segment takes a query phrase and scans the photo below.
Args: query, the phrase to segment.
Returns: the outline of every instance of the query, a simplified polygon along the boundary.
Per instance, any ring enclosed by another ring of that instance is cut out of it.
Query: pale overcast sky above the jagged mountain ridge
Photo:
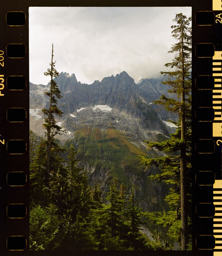
[[[81,83],[124,70],[135,82],[157,77],[173,58],[170,26],[179,12],[189,17],[191,7],[30,7],[30,82],[48,83],[52,43],[57,71]]]

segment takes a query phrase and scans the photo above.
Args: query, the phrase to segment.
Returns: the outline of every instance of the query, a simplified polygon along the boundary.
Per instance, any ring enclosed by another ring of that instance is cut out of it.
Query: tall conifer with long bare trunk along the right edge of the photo
[[[165,95],[160,100],[154,101],[156,104],[171,112],[178,113],[179,122],[172,123],[177,125],[177,131],[171,135],[171,138],[161,143],[149,142],[149,147],[156,147],[160,151],[166,152],[166,157],[156,159],[146,159],[142,156],[141,162],[146,165],[161,165],[162,173],[151,176],[151,178],[171,184],[170,194],[166,201],[170,206],[180,207],[181,218],[181,249],[186,250],[188,244],[188,196],[190,181],[189,171],[191,168],[191,18],[187,18],[182,13],[176,14],[173,20],[177,25],[171,26],[172,36],[176,38],[177,43],[172,45],[170,53],[176,53],[171,63],[166,63],[166,67],[174,68],[174,71],[160,73],[166,75],[168,79],[163,84],[170,85],[168,92],[177,96],[167,98]],[[171,155],[170,155],[171,154]],[[178,194],[180,193],[180,195]],[[176,220],[175,220],[176,221]]]

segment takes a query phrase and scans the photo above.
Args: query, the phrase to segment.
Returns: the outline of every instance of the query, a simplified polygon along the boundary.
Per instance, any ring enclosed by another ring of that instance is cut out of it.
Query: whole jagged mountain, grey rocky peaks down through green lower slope
[[[168,187],[148,179],[157,169],[145,169],[136,156],[160,155],[154,149],[146,151],[143,140],[162,141],[174,131],[151,104],[161,95],[163,85],[159,82],[156,87],[154,80],[147,79],[137,85],[125,71],[90,85],[66,72],[55,81],[63,96],[58,107],[64,113],[56,121],[66,130],[59,139],[64,147],[75,145],[89,184],[100,184],[105,197],[110,180],[116,176],[128,189],[135,186],[140,206],[152,211],[165,209],[163,198]],[[30,129],[39,136],[44,136],[41,109],[48,107],[44,95],[48,88],[49,84],[30,83]]]

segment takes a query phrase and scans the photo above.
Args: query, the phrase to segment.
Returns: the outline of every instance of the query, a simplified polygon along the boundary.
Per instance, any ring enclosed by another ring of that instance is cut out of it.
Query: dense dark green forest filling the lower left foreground
[[[106,202],[99,185],[90,188],[76,150],[71,145],[68,161],[54,142],[49,180],[46,181],[46,141],[30,133],[30,249],[147,250],[166,248],[159,239],[141,232],[147,213],[135,206],[135,191],[113,178]],[[38,142],[37,142],[38,141]],[[170,249],[170,247],[167,247]]]

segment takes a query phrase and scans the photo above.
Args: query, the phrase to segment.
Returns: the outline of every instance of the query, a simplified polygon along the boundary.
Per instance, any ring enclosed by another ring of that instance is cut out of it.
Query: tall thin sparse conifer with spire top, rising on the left
[[[49,92],[44,92],[45,95],[49,96],[49,108],[43,108],[42,112],[46,117],[44,118],[44,124],[43,127],[46,129],[45,135],[47,138],[47,149],[46,149],[46,186],[49,182],[49,176],[52,169],[52,159],[51,159],[51,151],[55,149],[56,144],[54,143],[54,138],[56,134],[61,135],[61,132],[65,132],[64,129],[62,129],[59,125],[56,125],[55,121],[55,115],[58,115],[59,117],[62,116],[62,111],[59,110],[57,107],[58,99],[60,99],[62,96],[60,94],[60,90],[56,84],[56,82],[53,80],[53,78],[56,78],[59,76],[59,72],[55,69],[55,63],[53,62],[53,44],[52,44],[52,59],[49,63],[50,68],[47,69],[46,72],[44,72],[45,76],[50,76],[50,88]]]

